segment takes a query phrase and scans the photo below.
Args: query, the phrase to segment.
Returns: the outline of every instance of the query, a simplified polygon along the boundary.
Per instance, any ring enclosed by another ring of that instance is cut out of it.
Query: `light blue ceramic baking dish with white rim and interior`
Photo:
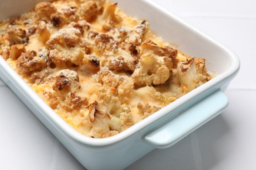
[[[18,4],[18,0],[17,4]],[[154,148],[167,148],[211,120],[228,105],[224,90],[240,67],[238,57],[177,16],[150,0],[116,0],[119,8],[131,16],[146,18],[165,41],[190,56],[207,59],[207,69],[217,76],[114,137],[92,139],[72,129],[58,114],[0,58],[2,80],[20,97],[58,140],[87,169],[124,169]],[[23,1],[22,1],[23,2]],[[5,7],[11,1],[1,1]],[[35,1],[24,1],[26,9],[1,10],[8,18],[32,9]],[[25,7],[25,6],[24,6]],[[18,11],[18,12],[17,12]]]

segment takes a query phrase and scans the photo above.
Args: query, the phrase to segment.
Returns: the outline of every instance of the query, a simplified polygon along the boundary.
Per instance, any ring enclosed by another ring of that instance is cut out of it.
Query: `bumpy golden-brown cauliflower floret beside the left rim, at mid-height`
[[[22,75],[29,76],[47,67],[47,59],[43,55],[37,56],[35,51],[28,51],[17,59],[16,66]]]

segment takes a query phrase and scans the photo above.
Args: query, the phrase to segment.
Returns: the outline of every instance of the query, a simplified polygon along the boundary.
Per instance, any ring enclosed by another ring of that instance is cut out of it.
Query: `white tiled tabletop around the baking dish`
[[[230,47],[242,65],[220,116],[127,169],[256,169],[256,1],[152,1]],[[83,169],[1,80],[0,118],[0,169]]]

